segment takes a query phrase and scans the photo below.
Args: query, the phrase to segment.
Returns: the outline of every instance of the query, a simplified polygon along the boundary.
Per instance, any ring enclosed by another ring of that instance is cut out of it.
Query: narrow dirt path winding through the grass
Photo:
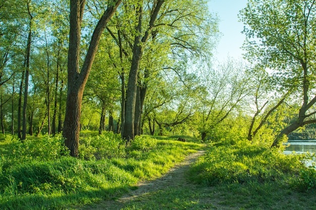
[[[145,193],[163,190],[167,187],[177,188],[183,185],[191,185],[191,183],[189,183],[185,177],[186,171],[189,170],[190,165],[194,163],[198,157],[204,155],[204,153],[205,151],[198,151],[187,156],[184,161],[171,168],[164,176],[158,179],[137,183],[136,186],[138,188],[136,190],[130,191],[117,200],[106,200],[95,204],[92,208],[85,209],[121,209],[127,202],[131,202],[134,199],[137,199],[138,196],[141,196]]]

